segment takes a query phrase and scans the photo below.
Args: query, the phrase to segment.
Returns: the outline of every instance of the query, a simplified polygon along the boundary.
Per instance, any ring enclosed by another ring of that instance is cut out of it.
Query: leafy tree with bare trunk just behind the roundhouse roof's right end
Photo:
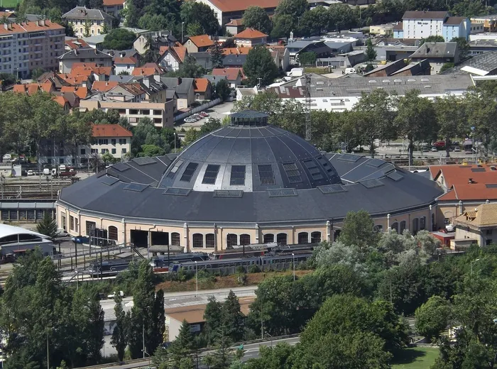
[[[430,100],[420,97],[417,89],[410,90],[399,98],[395,125],[398,134],[409,141],[409,164],[413,162],[415,141],[429,140],[436,132],[435,109]]]

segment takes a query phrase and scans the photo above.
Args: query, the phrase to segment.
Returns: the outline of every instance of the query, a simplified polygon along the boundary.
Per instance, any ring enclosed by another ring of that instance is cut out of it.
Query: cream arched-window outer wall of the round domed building
[[[375,225],[382,231],[388,228],[395,228],[395,224],[400,227],[405,221],[405,228],[415,233],[422,229],[431,229],[430,219],[436,220],[436,206],[430,206],[417,211],[409,211],[395,216],[381,216],[376,219]],[[111,209],[109,209],[111,211]],[[320,241],[333,241],[342,228],[342,222],[323,221],[320,223],[310,222],[310,224],[299,224],[295,226],[259,226],[258,224],[246,227],[234,227],[224,224],[210,224],[197,226],[182,221],[170,221],[171,224],[158,224],[158,221],[143,219],[143,223],[138,221],[128,221],[126,218],[114,219],[110,214],[86,215],[82,211],[70,209],[62,202],[57,204],[58,226],[65,228],[73,236],[89,236],[89,229],[93,226],[99,229],[106,229],[109,238],[114,239],[119,244],[136,244],[136,235],[141,233],[141,237],[146,237],[146,245],[153,246],[156,233],[160,233],[161,239],[167,239],[172,246],[182,246],[187,251],[214,251],[226,250],[229,242],[234,245],[268,243],[276,241],[288,245],[297,243],[309,243]],[[425,219],[425,226],[422,228],[421,219]],[[164,221],[166,223],[167,221]],[[174,224],[173,224],[174,223]],[[416,226],[417,224],[417,226]],[[111,228],[115,227],[115,228]],[[400,231],[400,228],[399,228]],[[137,233],[138,232],[138,233]],[[111,235],[116,235],[112,238]],[[284,236],[283,236],[284,235]],[[285,241],[283,241],[283,239]],[[200,243],[200,241],[202,241]],[[210,243],[209,243],[210,242]]]

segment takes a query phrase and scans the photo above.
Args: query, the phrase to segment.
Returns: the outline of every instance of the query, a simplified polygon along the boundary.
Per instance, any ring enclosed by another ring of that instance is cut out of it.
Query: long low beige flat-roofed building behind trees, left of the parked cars
[[[115,109],[119,111],[120,116],[128,119],[132,126],[136,126],[140,119],[145,117],[151,119],[155,127],[173,127],[175,101],[173,99],[163,102],[154,103],[141,101],[136,102],[114,99],[114,96],[107,96],[107,93],[99,92],[80,101],[80,111],[91,111],[100,109],[108,111]]]

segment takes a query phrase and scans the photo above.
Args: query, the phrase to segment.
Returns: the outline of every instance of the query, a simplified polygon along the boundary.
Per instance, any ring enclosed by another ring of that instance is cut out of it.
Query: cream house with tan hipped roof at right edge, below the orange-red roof
[[[454,250],[464,250],[472,244],[489,246],[497,243],[497,204],[487,202],[452,219],[456,236],[450,241]]]

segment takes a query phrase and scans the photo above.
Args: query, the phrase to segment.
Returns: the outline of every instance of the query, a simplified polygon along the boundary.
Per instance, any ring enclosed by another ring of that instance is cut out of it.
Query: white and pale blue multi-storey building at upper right
[[[447,11],[406,11],[402,29],[399,24],[393,28],[394,38],[420,39],[439,35],[447,42],[454,37],[467,40],[471,33],[469,18],[452,17]]]

